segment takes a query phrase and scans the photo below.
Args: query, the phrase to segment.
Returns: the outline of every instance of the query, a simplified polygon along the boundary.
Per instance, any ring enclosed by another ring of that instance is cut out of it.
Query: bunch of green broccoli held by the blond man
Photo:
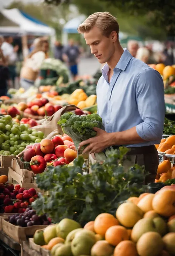
[[[61,126],[62,131],[72,138],[78,149],[81,141],[96,136],[93,127],[102,128],[102,118],[95,113],[87,116],[78,116],[69,112],[60,117],[58,124]]]

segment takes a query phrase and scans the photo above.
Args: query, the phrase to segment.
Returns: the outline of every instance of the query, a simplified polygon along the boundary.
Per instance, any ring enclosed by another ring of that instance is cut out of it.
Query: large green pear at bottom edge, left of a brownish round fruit
[[[91,248],[96,241],[91,235],[87,233],[81,233],[80,235],[80,233],[78,233],[78,236],[71,243],[73,256],[90,255]]]

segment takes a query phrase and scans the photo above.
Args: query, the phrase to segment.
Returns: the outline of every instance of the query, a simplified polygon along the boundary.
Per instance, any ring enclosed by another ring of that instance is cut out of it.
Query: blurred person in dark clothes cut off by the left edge
[[[8,79],[10,78],[10,72],[9,68],[7,67],[7,61],[1,49],[3,41],[4,38],[0,36],[0,96],[4,96],[7,94],[7,84]]]

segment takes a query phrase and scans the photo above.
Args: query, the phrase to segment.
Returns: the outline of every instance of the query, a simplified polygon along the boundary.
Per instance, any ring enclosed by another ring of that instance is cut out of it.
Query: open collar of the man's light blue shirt
[[[129,63],[130,59],[132,58],[132,55],[130,54],[130,52],[128,52],[127,48],[124,48],[123,50],[124,50],[124,52],[121,55],[119,62],[117,63],[117,65],[115,66],[114,69],[118,68],[118,69],[121,69],[124,71]],[[108,71],[109,71],[109,66],[107,64],[105,64],[104,67],[102,68],[102,74],[104,75]]]

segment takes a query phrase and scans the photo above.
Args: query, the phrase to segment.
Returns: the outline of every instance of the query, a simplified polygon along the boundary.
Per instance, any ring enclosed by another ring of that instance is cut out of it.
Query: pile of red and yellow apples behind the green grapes
[[[34,116],[52,116],[56,111],[62,108],[61,105],[53,105],[48,99],[35,99],[27,104],[20,102],[17,108],[24,113]]]

